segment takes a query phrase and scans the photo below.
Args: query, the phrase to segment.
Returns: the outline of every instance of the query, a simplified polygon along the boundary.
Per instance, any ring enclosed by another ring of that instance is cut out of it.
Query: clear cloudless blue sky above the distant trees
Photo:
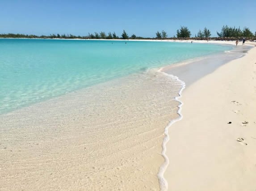
[[[226,24],[255,33],[255,10],[256,0],[0,0],[0,33],[173,37],[184,25],[192,36],[206,27],[214,37]]]

